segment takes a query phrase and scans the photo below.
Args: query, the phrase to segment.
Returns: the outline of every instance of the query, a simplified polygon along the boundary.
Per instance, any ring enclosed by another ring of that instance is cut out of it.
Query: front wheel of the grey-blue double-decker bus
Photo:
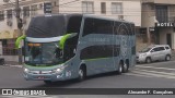
[[[84,81],[84,79],[85,79],[85,75],[86,75],[85,66],[82,65],[82,66],[79,69],[79,77],[78,77],[78,81],[79,81],[79,82]]]

